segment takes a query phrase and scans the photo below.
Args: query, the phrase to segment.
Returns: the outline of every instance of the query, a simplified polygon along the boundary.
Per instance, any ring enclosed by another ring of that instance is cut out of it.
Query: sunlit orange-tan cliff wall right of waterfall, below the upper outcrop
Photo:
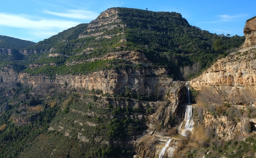
[[[256,50],[248,54],[228,55],[215,62],[202,75],[192,79],[190,85],[196,89],[204,86],[248,87],[256,86]]]

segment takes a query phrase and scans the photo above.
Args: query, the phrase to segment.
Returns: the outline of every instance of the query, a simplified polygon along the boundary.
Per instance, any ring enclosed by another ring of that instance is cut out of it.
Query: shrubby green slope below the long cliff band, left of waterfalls
[[[0,157],[131,157],[132,145],[113,142],[125,144],[141,134],[145,122],[131,115],[147,115],[148,108],[133,109],[124,98],[100,93],[0,83]]]

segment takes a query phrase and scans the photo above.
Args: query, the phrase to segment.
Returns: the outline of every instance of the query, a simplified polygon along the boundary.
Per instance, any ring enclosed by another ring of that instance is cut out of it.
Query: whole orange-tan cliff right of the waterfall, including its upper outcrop
[[[256,101],[254,98],[256,90],[255,31],[256,19],[253,18],[244,26],[246,40],[242,49],[219,59],[202,75],[192,79],[191,87],[197,90],[201,90],[203,87],[212,87],[215,89],[215,94],[221,94],[229,103],[230,97],[237,103],[254,103]],[[250,99],[244,96],[250,96]]]

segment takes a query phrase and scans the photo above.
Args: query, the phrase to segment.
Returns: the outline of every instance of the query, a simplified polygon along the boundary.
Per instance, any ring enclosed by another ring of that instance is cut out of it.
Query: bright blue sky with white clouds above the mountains
[[[243,36],[246,20],[256,15],[255,0],[3,0],[0,35],[38,42],[112,7],[175,11],[193,26],[231,36]]]

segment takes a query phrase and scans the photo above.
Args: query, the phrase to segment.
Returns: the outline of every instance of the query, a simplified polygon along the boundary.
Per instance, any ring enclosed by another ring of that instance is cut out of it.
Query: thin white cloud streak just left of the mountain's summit
[[[66,9],[65,13],[54,12],[44,9],[44,13],[55,15],[59,17],[71,18],[71,19],[95,19],[98,16],[98,13],[94,13],[92,11],[85,10],[74,10],[74,9]]]

